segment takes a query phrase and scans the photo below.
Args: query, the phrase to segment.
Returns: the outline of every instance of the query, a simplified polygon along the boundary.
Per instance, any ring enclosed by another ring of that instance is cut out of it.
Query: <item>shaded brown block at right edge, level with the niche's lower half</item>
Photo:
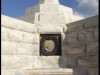
[[[87,47],[87,53],[88,54],[98,54],[98,50],[99,50],[99,46],[98,46],[98,42],[88,42],[86,44]]]

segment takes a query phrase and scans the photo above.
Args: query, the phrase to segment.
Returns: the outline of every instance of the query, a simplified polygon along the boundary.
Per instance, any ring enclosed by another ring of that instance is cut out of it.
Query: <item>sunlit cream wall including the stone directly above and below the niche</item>
[[[62,27],[36,26],[4,15],[1,25],[2,75],[30,75],[27,70],[59,68],[59,56],[40,56],[40,34],[63,34]]]

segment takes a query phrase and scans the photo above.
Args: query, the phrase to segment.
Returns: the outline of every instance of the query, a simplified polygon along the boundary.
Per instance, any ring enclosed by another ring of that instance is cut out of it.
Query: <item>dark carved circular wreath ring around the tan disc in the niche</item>
[[[52,51],[48,51],[45,46],[44,46],[44,43],[46,40],[52,40],[54,42],[54,49]],[[48,55],[56,55],[57,53],[57,48],[59,46],[59,40],[58,40],[58,37],[56,36],[45,36],[45,37],[42,37],[41,40],[41,49],[40,49],[40,54],[41,55],[45,55],[45,56],[48,56]]]

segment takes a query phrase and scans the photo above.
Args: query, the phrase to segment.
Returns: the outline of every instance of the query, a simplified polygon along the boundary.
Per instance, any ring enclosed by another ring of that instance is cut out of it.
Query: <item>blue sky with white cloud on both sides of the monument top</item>
[[[25,9],[37,3],[38,0],[1,0],[1,14],[14,18],[24,16]],[[98,15],[98,0],[59,0],[59,3],[84,18]]]

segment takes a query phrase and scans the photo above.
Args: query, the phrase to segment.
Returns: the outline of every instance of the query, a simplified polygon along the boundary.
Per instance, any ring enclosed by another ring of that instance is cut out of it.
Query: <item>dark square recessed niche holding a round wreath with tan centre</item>
[[[60,34],[40,35],[40,56],[57,56],[61,54]]]

